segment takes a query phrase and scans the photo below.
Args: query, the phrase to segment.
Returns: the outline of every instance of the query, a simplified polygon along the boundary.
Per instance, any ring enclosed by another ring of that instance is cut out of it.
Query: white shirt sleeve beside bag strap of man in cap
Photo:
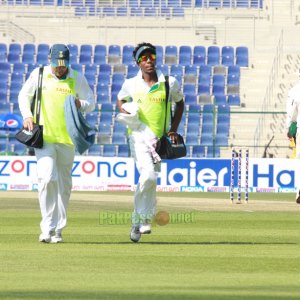
[[[26,80],[21,88],[18,96],[19,109],[23,119],[31,118],[32,112],[30,110],[31,102],[38,86],[39,68],[32,71],[29,78]]]

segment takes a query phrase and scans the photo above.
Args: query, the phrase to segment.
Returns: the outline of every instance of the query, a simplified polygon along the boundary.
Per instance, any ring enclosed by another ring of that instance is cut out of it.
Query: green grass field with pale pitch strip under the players
[[[140,243],[131,193],[73,193],[64,244],[39,243],[36,193],[0,192],[0,299],[300,299],[300,205],[293,194],[160,193],[174,218]],[[102,222],[103,223],[103,222]],[[111,224],[114,223],[114,224]],[[117,224],[116,224],[117,223]]]

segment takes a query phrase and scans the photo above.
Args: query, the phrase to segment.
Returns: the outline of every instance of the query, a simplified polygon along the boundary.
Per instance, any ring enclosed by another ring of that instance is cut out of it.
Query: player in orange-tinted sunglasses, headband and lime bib
[[[132,101],[138,107],[139,120],[146,125],[151,134],[147,134],[151,141],[145,140],[145,134],[139,130],[128,129],[129,147],[138,172],[140,174],[138,185],[134,195],[134,211],[132,217],[132,229],[130,238],[138,242],[141,234],[151,233],[151,221],[156,210],[156,184],[160,171],[160,162],[153,155],[153,141],[164,134],[164,122],[166,131],[173,143],[177,142],[177,129],[181,121],[184,109],[183,94],[178,81],[169,77],[169,101],[166,109],[165,76],[156,69],[156,48],[150,43],[141,43],[133,50],[133,57],[140,70],[138,74],[126,79],[118,93],[117,107],[120,113],[129,113],[126,102]],[[168,129],[171,102],[175,102],[175,114],[173,123]],[[147,129],[148,129],[147,128]],[[145,127],[143,127],[143,132]],[[151,145],[151,146],[149,146]],[[155,154],[155,153],[154,153]]]

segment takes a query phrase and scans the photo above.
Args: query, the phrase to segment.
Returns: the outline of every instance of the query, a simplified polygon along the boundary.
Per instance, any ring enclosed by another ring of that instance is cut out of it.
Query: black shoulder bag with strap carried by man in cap
[[[38,78],[38,89],[35,93],[33,103],[31,105],[31,111],[34,111],[35,101],[36,105],[36,123],[33,124],[32,131],[25,129],[24,127],[16,133],[16,139],[25,144],[28,147],[33,148],[42,148],[43,147],[43,125],[40,125],[40,110],[41,110],[41,96],[42,96],[42,79],[43,79],[43,69],[39,69],[39,78]]]

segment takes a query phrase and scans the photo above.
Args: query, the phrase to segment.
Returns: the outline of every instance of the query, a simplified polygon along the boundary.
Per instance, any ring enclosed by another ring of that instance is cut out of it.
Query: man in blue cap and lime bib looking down
[[[40,124],[44,146],[35,149],[39,204],[42,215],[40,242],[63,242],[62,230],[67,224],[67,208],[72,189],[71,170],[75,146],[67,131],[64,104],[74,96],[78,110],[95,108],[94,95],[85,77],[69,67],[70,52],[66,45],[55,44],[49,53],[50,64],[44,67]],[[23,126],[32,130],[34,114],[31,102],[38,86],[39,68],[33,70],[19,93]]]

